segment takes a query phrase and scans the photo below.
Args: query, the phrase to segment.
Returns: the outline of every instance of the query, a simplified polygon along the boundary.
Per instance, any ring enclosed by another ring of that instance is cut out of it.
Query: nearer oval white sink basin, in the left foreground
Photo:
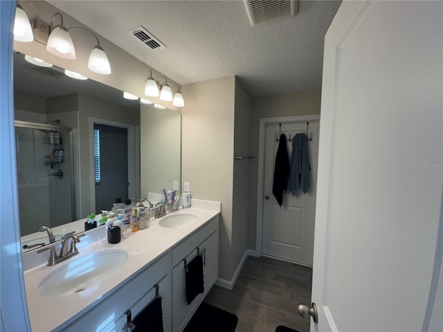
[[[80,293],[99,284],[122,268],[128,259],[125,250],[104,250],[84,257],[71,257],[67,264],[56,268],[37,287],[44,297]]]

